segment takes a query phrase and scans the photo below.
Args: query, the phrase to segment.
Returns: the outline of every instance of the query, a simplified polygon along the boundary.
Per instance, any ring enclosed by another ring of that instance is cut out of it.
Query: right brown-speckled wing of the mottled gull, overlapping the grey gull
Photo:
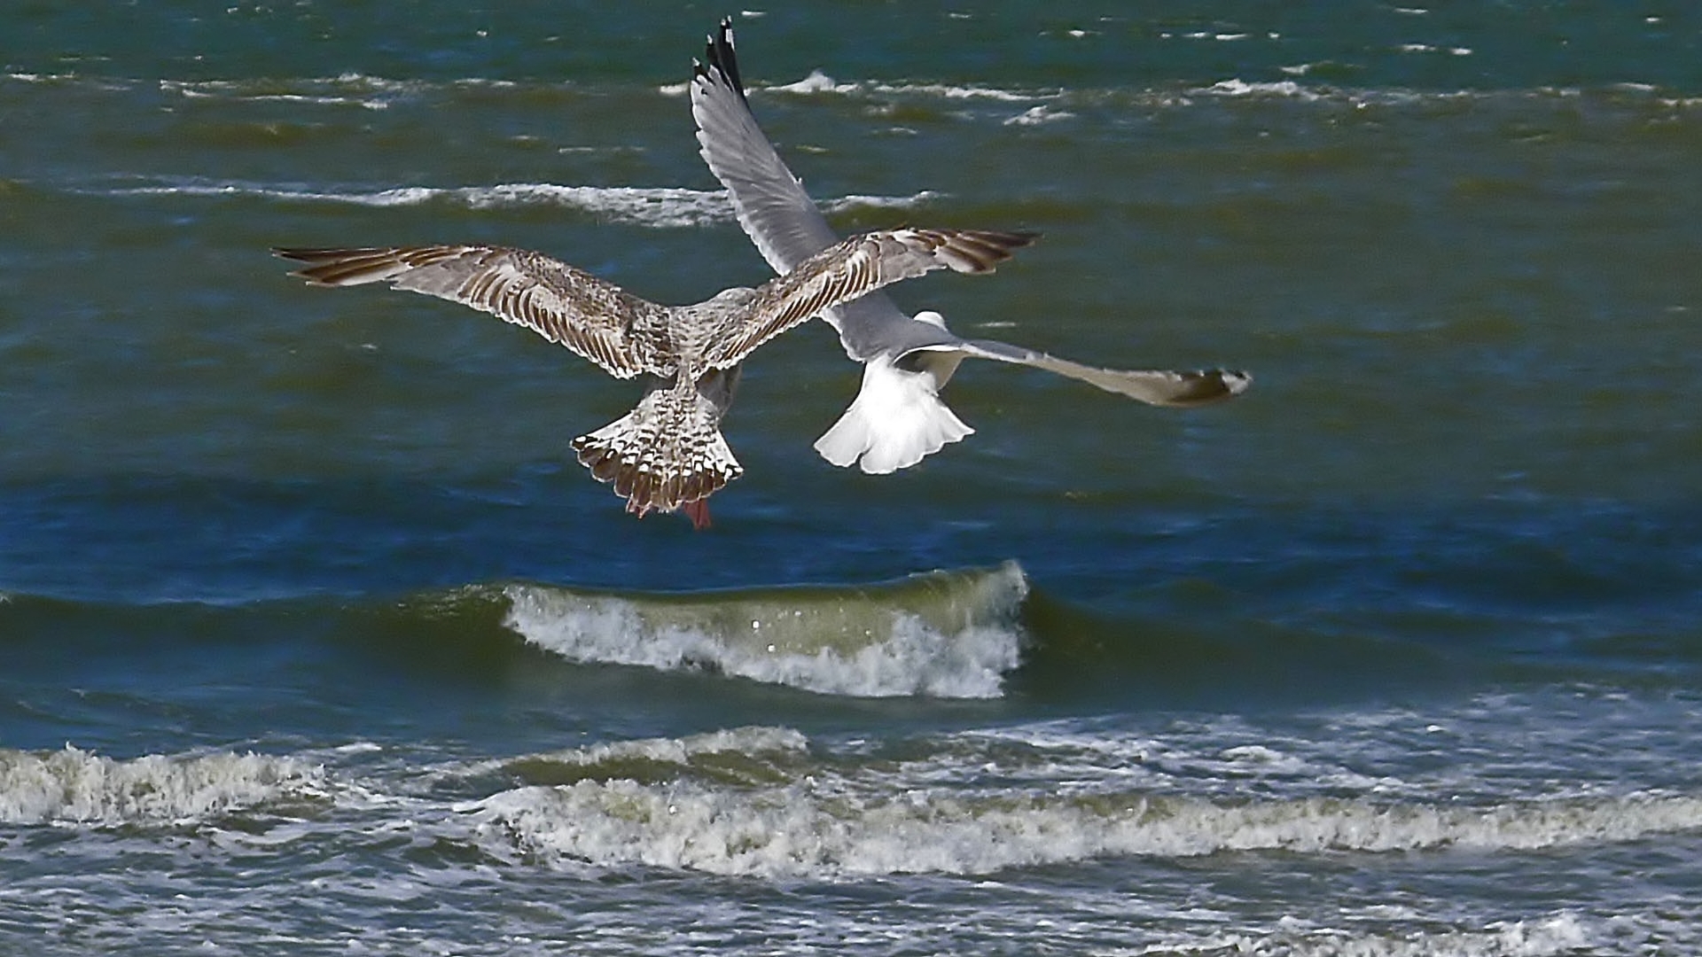
[[[934,269],[992,272],[1033,240],[1035,233],[989,230],[904,228],[854,235],[764,283],[749,312],[730,315],[710,337],[705,363],[710,368],[732,366],[762,342],[825,308]]]

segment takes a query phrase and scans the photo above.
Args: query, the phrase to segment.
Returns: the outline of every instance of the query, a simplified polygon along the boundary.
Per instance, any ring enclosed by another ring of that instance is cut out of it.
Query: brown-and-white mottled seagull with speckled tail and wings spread
[[[684,307],[638,298],[540,252],[500,245],[272,249],[306,262],[313,286],[388,283],[487,312],[565,346],[614,378],[643,378],[625,417],[574,439],[579,461],[614,485],[626,511],[684,509],[710,523],[708,497],[744,473],[720,433],[739,363],[812,315],[934,269],[992,272],[1035,233],[877,230],[831,244],[762,286]]]

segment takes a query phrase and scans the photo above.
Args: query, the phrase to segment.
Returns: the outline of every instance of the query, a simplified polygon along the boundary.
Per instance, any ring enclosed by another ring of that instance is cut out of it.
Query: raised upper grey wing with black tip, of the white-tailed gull
[[[803,191],[803,182],[786,169],[751,114],[728,20],[722,20],[710,37],[705,63],[693,66],[691,116],[698,123],[698,152],[727,187],[739,226],[762,259],[774,272],[786,272],[837,244],[839,237]],[[846,352],[858,361],[890,352],[892,344],[905,342],[912,325],[926,325],[912,322],[885,293],[825,310],[822,317],[839,330]]]

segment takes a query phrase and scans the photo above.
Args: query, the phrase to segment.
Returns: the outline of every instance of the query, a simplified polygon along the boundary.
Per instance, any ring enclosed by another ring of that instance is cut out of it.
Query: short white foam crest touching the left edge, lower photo
[[[250,807],[322,785],[323,770],[264,754],[148,754],[128,761],[66,746],[51,754],[0,751],[0,821],[175,822]]]

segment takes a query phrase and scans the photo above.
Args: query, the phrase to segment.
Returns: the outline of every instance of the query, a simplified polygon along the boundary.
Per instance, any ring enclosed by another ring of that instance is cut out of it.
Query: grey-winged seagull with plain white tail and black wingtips
[[[732,194],[739,225],[762,259],[786,272],[839,237],[751,114],[732,20],[723,19],[708,39],[705,60],[693,61],[691,78],[700,153]],[[909,468],[975,431],[940,400],[940,390],[967,358],[1033,366],[1173,409],[1222,402],[1253,381],[1227,370],[1101,370],[991,339],[960,339],[938,312],[905,315],[885,293],[829,308],[822,317],[839,332],[846,354],[863,363],[863,387],[815,441],[815,451],[834,465],[858,463],[877,475]]]

